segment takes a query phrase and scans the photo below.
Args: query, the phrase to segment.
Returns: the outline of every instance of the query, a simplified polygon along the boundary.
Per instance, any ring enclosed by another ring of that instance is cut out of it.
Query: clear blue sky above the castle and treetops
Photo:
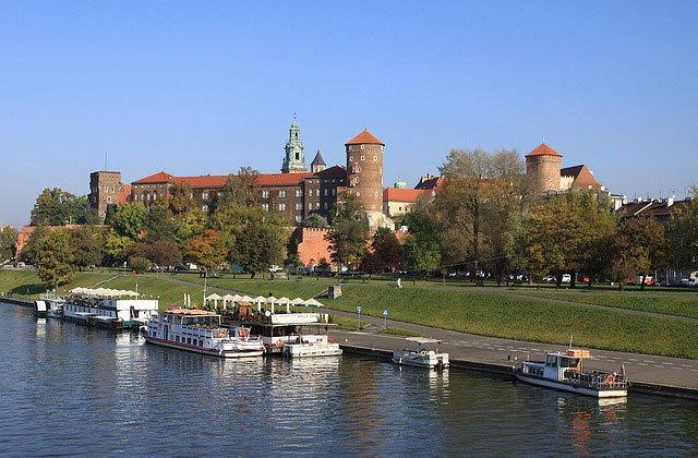
[[[0,221],[47,186],[276,172],[364,126],[384,184],[542,138],[612,192],[698,181],[698,1],[4,1]]]

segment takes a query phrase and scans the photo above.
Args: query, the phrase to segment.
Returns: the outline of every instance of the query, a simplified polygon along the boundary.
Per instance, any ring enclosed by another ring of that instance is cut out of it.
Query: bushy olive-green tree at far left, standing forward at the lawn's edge
[[[74,276],[73,250],[65,229],[50,231],[43,243],[39,280],[47,289],[69,284]]]

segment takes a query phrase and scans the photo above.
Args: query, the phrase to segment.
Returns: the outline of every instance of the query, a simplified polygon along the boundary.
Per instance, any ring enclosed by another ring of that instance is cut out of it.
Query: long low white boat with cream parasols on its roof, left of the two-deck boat
[[[75,288],[64,298],[63,318],[108,329],[135,328],[158,313],[157,299],[115,289]]]

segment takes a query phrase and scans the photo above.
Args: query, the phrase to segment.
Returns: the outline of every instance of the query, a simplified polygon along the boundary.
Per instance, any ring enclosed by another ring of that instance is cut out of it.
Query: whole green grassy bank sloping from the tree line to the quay
[[[94,286],[111,278],[109,273],[82,273],[63,289]],[[146,296],[158,297],[161,306],[180,304],[184,293],[201,304],[201,286],[171,280],[203,284],[195,275],[117,277],[104,284],[107,288],[135,289]],[[334,284],[335,279],[304,278],[303,280],[208,279],[210,287],[219,287],[249,294],[308,299]],[[36,291],[36,273],[0,270],[0,291]],[[365,315],[382,316],[389,311],[392,320],[423,324],[484,336],[564,345],[569,335],[582,347],[621,350],[698,359],[698,321],[637,315],[622,310],[602,310],[583,305],[542,300],[561,299],[581,304],[602,304],[618,309],[645,310],[682,316],[695,315],[698,294],[665,294],[655,290],[646,296],[635,292],[623,296],[615,291],[587,292],[546,291],[510,288],[443,288],[419,285],[396,289],[388,281],[342,285],[344,294],[336,301],[324,300],[328,306],[356,312],[362,306]],[[483,292],[484,291],[484,292]],[[38,294],[39,291],[36,291]],[[351,323],[346,323],[352,326]]]

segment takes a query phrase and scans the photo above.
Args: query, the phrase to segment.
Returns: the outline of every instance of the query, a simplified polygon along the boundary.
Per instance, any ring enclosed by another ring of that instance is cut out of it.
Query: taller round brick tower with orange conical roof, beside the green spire
[[[345,143],[347,186],[364,212],[383,213],[383,148],[385,144],[364,130]]]

